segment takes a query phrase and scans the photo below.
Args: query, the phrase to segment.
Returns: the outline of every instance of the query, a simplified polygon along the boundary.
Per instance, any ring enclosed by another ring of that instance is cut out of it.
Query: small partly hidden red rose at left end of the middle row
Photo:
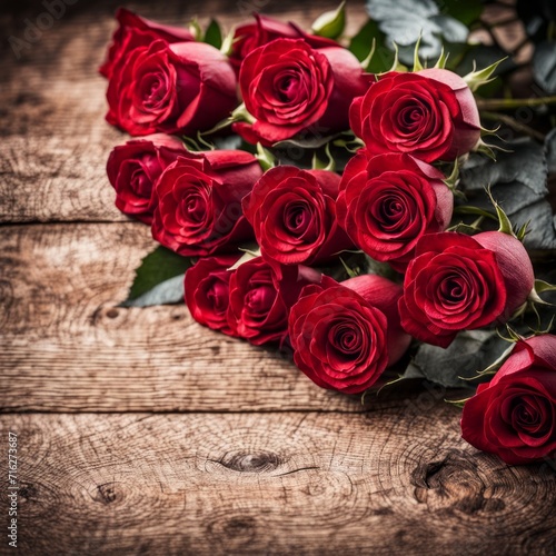
[[[116,206],[128,216],[150,224],[152,188],[162,170],[185,152],[176,137],[156,133],[115,147],[107,175],[116,189]]]

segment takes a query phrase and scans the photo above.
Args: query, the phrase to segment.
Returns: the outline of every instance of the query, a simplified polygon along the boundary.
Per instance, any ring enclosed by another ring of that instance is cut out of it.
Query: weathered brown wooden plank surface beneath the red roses
[[[251,9],[308,24],[335,4],[128,7],[230,26]],[[468,446],[445,393],[414,384],[361,405],[185,306],[119,308],[155,244],[105,173],[126,139],[96,71],[116,3],[76,1],[20,59],[7,38],[44,7],[2,6],[0,486],[11,430],[22,554],[555,553],[554,470]],[[348,13],[353,32],[363,2]]]

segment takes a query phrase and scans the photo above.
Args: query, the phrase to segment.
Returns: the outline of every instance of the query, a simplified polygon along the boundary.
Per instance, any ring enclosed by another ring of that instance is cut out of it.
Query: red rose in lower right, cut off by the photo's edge
[[[461,436],[510,465],[556,455],[556,336],[516,344],[493,380],[466,401]]]

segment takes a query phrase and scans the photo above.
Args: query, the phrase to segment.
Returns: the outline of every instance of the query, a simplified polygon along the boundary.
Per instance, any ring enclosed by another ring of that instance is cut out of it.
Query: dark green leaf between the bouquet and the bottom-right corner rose
[[[424,376],[447,388],[473,386],[474,378],[493,364],[508,347],[493,330],[468,330],[456,336],[446,348],[421,344],[405,376]]]

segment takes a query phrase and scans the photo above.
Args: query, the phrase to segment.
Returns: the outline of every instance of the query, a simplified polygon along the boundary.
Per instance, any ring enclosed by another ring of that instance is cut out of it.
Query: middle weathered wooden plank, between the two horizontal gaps
[[[155,247],[141,224],[0,230],[3,410],[361,409],[276,349],[201,327],[185,305],[117,307]]]

